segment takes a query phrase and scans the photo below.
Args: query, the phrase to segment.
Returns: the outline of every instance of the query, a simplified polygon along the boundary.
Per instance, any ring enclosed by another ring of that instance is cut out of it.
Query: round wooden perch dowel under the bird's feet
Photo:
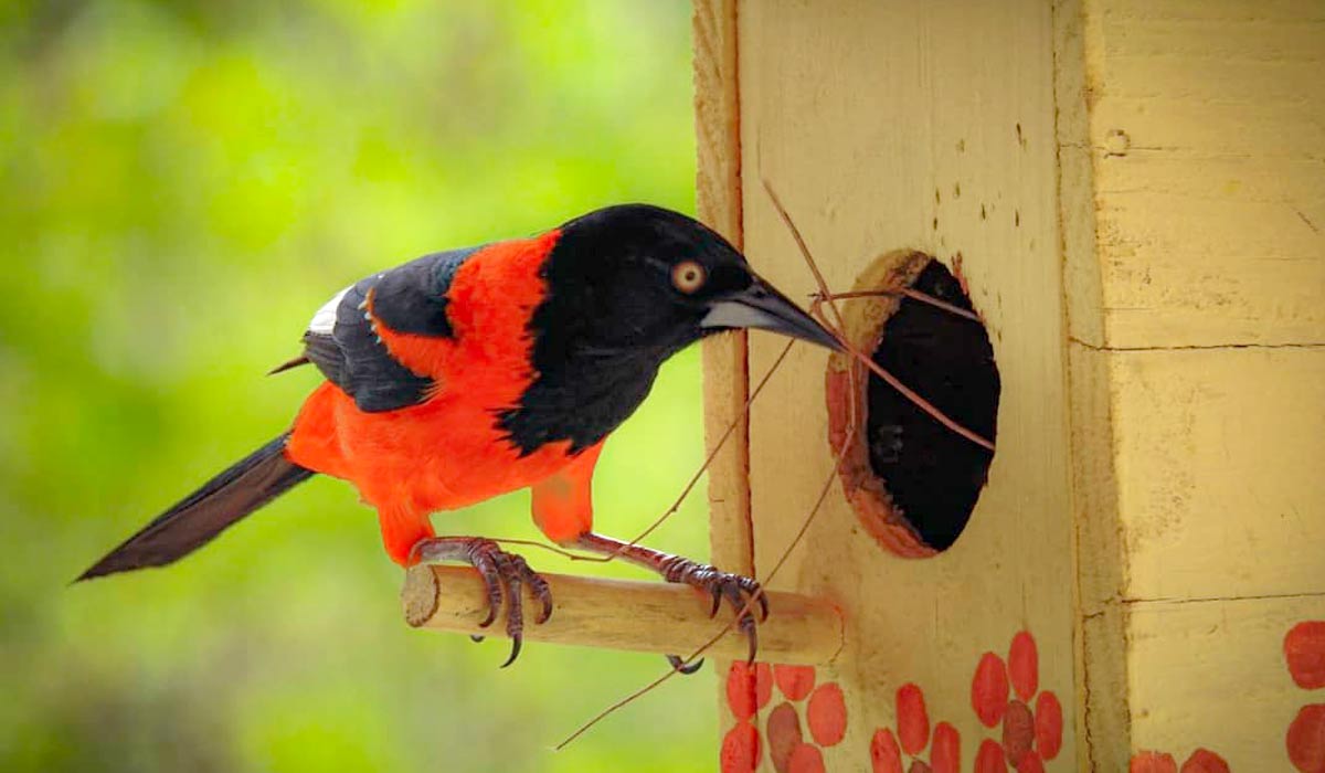
[[[689,655],[731,621],[723,607],[709,618],[708,595],[665,582],[627,582],[543,575],[553,589],[551,619],[534,624],[526,598],[525,639]],[[488,610],[478,573],[468,566],[415,566],[400,593],[405,622],[415,627],[505,636],[501,619],[480,628]],[[768,619],[759,624],[759,659],[816,666],[831,662],[843,646],[841,613],[827,601],[791,593],[768,593]],[[746,639],[730,631],[706,652],[746,656]]]

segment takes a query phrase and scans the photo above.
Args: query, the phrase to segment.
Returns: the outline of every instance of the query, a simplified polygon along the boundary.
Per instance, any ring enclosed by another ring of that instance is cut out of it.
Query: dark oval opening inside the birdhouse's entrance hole
[[[962,285],[937,260],[912,288],[974,310]],[[984,325],[906,296],[884,324],[873,361],[958,423],[994,440],[999,377]],[[971,517],[994,453],[877,378],[869,379],[867,399],[871,468],[920,538],[946,550]]]

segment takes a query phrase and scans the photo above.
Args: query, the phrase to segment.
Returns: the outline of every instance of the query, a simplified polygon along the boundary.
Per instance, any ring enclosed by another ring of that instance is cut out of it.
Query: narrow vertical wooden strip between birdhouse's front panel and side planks
[[[1090,147],[1086,54],[1097,48],[1098,20],[1083,0],[1053,1],[1053,91],[1059,146],[1059,223],[1063,294],[1071,335],[1104,341],[1104,268],[1097,259],[1094,176],[1101,154]],[[1088,46],[1088,38],[1092,45]],[[1113,455],[1113,392],[1108,354],[1068,347],[1072,516],[1076,538],[1077,766],[1122,770],[1130,748],[1126,696],[1126,621],[1120,587],[1126,557],[1118,540]]]

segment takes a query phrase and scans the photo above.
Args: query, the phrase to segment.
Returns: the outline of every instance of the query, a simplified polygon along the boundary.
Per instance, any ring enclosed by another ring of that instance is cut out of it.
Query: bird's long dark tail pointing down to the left
[[[311,469],[285,457],[285,442],[289,438],[289,432],[281,435],[204,483],[200,489],[158,516],[123,545],[83,571],[78,579],[171,564],[211,542],[231,524],[311,477]]]

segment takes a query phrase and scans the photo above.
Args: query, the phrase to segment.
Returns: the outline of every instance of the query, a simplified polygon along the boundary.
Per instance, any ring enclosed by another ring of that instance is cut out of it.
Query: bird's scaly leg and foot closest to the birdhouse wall
[[[754,662],[755,651],[759,648],[759,635],[754,614],[746,609],[747,602],[758,598],[759,619],[768,618],[768,599],[754,579],[741,574],[731,574],[730,571],[721,571],[708,564],[700,564],[689,558],[644,548],[643,545],[631,545],[612,537],[595,534],[594,532],[580,534],[574,540],[574,545],[591,553],[619,556],[631,564],[657,571],[668,582],[678,582],[706,591],[713,597],[713,609],[709,610],[709,617],[718,614],[718,607],[726,599],[733,611],[739,615],[737,627],[750,640],[750,662]],[[672,660],[672,658],[668,658],[668,660]],[[672,664],[676,667],[674,660],[672,660]]]

